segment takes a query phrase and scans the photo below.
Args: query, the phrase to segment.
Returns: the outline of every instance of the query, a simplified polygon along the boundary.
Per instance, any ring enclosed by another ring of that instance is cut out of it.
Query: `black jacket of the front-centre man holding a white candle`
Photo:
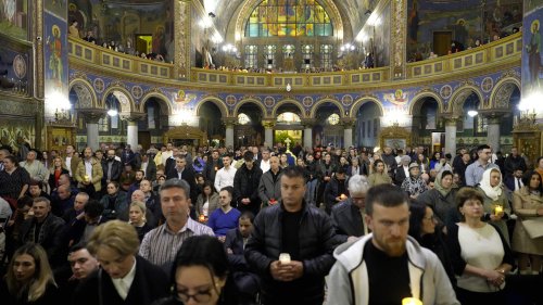
[[[298,236],[304,268],[303,276],[292,282],[277,281],[269,272],[282,250],[282,203],[262,209],[254,220],[245,258],[261,277],[264,304],[323,304],[325,276],[336,262],[332,252],[338,243],[328,215],[305,202],[302,208]],[[286,293],[293,287],[295,294]]]

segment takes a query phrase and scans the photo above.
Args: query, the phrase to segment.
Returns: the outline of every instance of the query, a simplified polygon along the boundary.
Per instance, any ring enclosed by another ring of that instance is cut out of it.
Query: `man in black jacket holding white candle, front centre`
[[[281,202],[256,216],[245,258],[261,277],[262,304],[321,305],[334,263],[333,227],[328,215],[304,202],[301,168],[283,169],[280,182]]]

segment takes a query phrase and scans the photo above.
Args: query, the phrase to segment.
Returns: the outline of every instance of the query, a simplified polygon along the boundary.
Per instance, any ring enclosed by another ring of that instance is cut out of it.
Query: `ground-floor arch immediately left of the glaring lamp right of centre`
[[[381,109],[372,100],[363,102],[356,112],[356,135],[357,147],[374,148],[379,142],[379,131],[381,130]]]

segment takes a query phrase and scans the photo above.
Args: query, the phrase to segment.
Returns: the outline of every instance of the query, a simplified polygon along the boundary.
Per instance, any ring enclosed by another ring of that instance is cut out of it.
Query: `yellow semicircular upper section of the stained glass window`
[[[332,35],[330,17],[316,0],[264,0],[245,25],[247,37]]]

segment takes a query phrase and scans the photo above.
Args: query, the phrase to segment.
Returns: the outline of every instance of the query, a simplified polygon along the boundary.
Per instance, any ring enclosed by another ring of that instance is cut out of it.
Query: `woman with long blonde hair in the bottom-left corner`
[[[2,304],[55,304],[58,289],[47,253],[27,243],[15,251],[0,287]]]

